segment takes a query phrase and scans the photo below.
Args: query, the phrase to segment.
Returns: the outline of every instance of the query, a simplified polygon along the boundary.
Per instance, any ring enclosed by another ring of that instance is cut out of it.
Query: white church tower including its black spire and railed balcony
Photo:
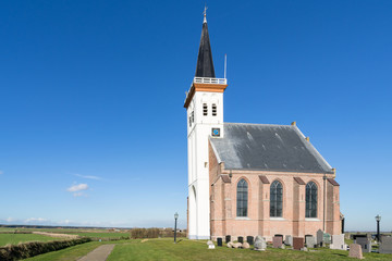
[[[188,238],[210,238],[208,139],[223,137],[225,78],[216,78],[206,11],[196,74],[186,94],[188,148]]]

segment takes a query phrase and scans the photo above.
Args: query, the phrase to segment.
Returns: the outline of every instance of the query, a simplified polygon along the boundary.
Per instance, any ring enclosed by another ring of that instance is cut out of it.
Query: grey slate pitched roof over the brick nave
[[[210,137],[226,170],[333,173],[296,126],[224,123],[224,137]]]

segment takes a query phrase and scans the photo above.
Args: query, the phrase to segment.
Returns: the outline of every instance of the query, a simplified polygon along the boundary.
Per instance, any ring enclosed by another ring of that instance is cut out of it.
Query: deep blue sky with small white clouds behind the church
[[[0,2],[0,223],[186,226],[205,1]],[[224,121],[298,127],[392,229],[392,2],[209,1]]]

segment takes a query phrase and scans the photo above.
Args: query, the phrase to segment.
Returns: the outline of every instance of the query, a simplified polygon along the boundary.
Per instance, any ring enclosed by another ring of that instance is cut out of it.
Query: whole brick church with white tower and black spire
[[[206,13],[186,92],[189,239],[230,235],[341,234],[340,186],[293,122],[223,122],[225,78],[216,78]]]

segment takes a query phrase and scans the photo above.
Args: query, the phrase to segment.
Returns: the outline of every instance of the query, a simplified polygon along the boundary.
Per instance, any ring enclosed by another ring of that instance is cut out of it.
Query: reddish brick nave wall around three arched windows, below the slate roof
[[[332,179],[324,179],[324,175]],[[316,232],[323,228],[331,235],[341,234],[339,184],[334,176],[330,173],[225,170],[209,145],[211,238],[261,235],[271,240],[275,234],[316,236]],[[246,217],[236,216],[236,186],[242,178],[248,184]],[[270,185],[277,179],[283,186],[283,213],[282,217],[270,217]],[[317,217],[314,219],[305,217],[308,182],[314,182],[318,188]]]

